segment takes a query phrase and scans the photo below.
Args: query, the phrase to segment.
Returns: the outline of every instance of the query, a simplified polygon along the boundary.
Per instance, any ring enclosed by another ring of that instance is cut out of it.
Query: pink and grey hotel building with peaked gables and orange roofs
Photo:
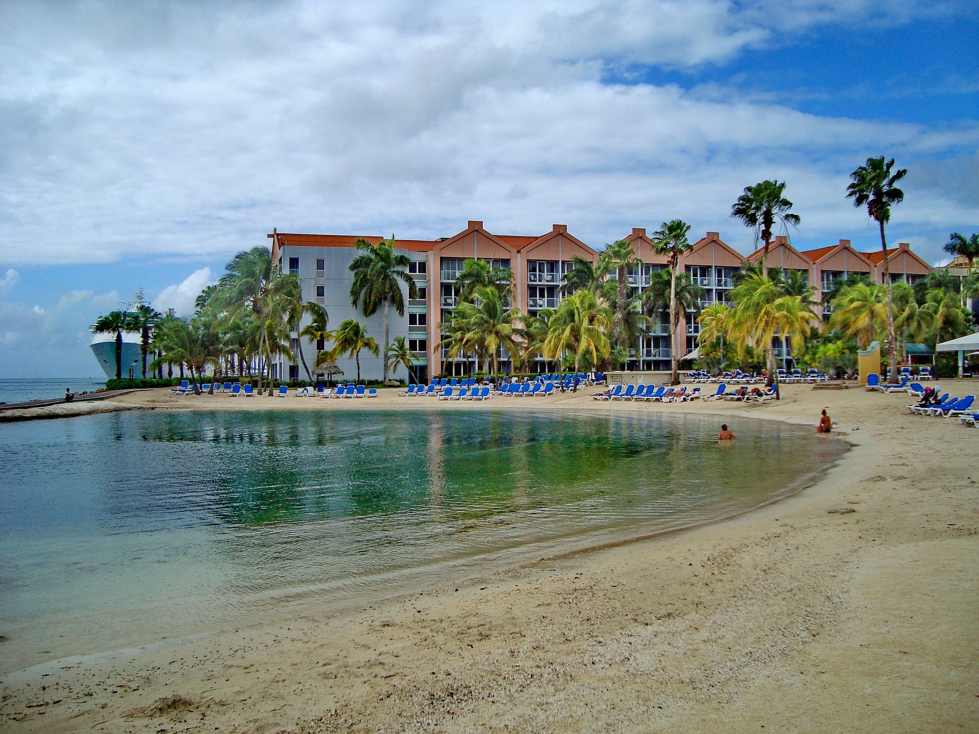
[[[330,325],[336,328],[341,321],[356,318],[365,324],[368,333],[378,344],[382,342],[383,329],[381,314],[365,318],[350,305],[350,262],[356,255],[354,235],[308,235],[272,231],[272,258],[284,272],[295,273],[303,284],[303,299],[317,302],[326,307]],[[380,237],[364,237],[371,243],[380,242]],[[666,258],[653,252],[653,244],[642,228],[633,228],[624,237],[643,265],[629,273],[629,285],[633,291],[642,291],[649,285],[653,271],[666,267]],[[416,378],[427,381],[440,374],[465,375],[476,370],[474,359],[449,360],[445,351],[438,347],[441,341],[438,325],[450,320],[449,312],[455,305],[458,294],[453,286],[463,262],[472,257],[489,260],[500,267],[513,270],[516,284],[514,305],[521,311],[535,313],[543,308],[556,308],[561,300],[559,287],[565,273],[572,268],[572,257],[580,255],[595,262],[598,252],[585,245],[568,232],[564,224],[555,224],[550,232],[537,237],[519,235],[497,235],[488,232],[483,222],[470,221],[468,226],[452,237],[438,240],[396,240],[396,250],[404,252],[411,259],[409,273],[419,288],[417,299],[406,300],[403,317],[391,314],[391,338],[406,337],[412,351],[416,354]],[[877,252],[857,252],[849,240],[840,240],[838,245],[818,250],[799,252],[785,238],[776,238],[769,247],[768,265],[786,270],[801,270],[806,273],[809,283],[816,286],[816,299],[821,299],[838,278],[846,278],[850,273],[861,273],[873,282],[883,282],[881,267],[883,255]],[[681,260],[681,267],[704,289],[702,306],[714,302],[727,302],[733,286],[735,273],[746,263],[756,263],[761,259],[761,251],[745,257],[726,245],[718,232],[708,232],[694,245]],[[892,281],[913,282],[931,272],[931,266],[901,243],[888,251]],[[821,308],[817,306],[817,312]],[[692,316],[692,314],[689,314]],[[686,348],[689,353],[697,343],[699,326],[692,318],[684,319],[680,329],[686,333]],[[293,335],[295,348],[297,335]],[[789,350],[777,345],[780,355],[788,359]],[[310,363],[317,349],[323,344],[303,344],[303,351]],[[501,357],[505,360],[506,355]],[[361,375],[367,379],[382,376],[381,357],[361,353]],[[506,369],[509,363],[504,361]],[[345,377],[355,374],[352,359],[338,359]],[[544,371],[544,363],[537,360],[538,369]],[[303,367],[290,363],[284,357],[275,366],[277,373],[284,378],[304,379]],[[638,353],[632,353],[630,369],[669,370],[670,369],[670,330],[666,313],[661,314],[642,338]],[[403,375],[399,375],[403,377]]]

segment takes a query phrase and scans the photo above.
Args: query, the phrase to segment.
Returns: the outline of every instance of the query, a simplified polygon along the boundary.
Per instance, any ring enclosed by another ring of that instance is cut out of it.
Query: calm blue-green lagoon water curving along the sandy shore
[[[708,520],[842,442],[764,422],[131,412],[0,425],[0,669]]]

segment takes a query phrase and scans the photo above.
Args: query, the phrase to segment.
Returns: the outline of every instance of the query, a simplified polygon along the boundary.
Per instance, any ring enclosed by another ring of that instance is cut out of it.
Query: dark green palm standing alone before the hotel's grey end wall
[[[401,285],[408,287],[408,298],[418,298],[418,286],[408,275],[411,258],[403,252],[395,252],[395,238],[379,242],[376,246],[366,240],[357,240],[354,247],[361,252],[350,263],[353,283],[350,284],[350,302],[360,307],[364,316],[373,316],[384,307],[384,349],[388,351],[389,312],[395,306],[398,316],[404,315],[404,295]],[[344,322],[347,323],[347,322]],[[360,379],[360,363],[357,362],[357,379]],[[388,363],[384,363],[384,382],[388,382]]]

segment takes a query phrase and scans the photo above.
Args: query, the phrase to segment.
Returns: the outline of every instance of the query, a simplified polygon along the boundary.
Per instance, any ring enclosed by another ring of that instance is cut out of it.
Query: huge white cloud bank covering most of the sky
[[[468,218],[532,234],[563,221],[601,244],[674,216],[717,229],[744,185],[771,176],[790,182],[808,235],[849,234],[863,223],[841,195],[855,163],[881,148],[902,164],[974,152],[976,126],[804,115],[731,90],[610,86],[603,71],[722,65],[817,25],[941,12],[874,0],[4,3],[0,232],[31,247],[0,234],[0,257],[223,257],[273,226],[433,237]],[[975,218],[971,195],[932,186],[910,200],[900,217],[915,231]],[[160,298],[189,313],[182,286]]]

